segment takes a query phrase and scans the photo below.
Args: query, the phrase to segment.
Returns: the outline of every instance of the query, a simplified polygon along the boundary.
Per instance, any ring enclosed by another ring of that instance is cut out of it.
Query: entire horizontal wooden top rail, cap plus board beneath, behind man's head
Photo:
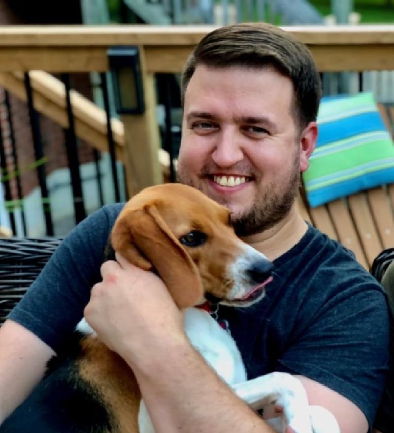
[[[107,50],[139,45],[148,72],[180,72],[193,46],[214,26],[0,27],[0,71],[104,71]],[[394,69],[394,25],[284,27],[306,43],[319,69]]]

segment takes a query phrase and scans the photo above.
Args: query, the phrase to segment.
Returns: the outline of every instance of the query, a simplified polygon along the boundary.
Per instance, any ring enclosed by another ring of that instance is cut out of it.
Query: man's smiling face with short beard
[[[178,178],[228,207],[239,235],[271,228],[297,195],[309,152],[292,101],[270,67],[200,65],[187,86]]]

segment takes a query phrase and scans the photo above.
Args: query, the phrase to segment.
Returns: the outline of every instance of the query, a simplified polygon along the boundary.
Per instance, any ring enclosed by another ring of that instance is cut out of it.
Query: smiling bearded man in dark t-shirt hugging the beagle
[[[372,431],[387,370],[384,295],[294,204],[317,137],[320,80],[309,51],[266,24],[224,27],[196,47],[182,87],[179,180],[227,206],[239,236],[275,265],[257,306],[219,309],[249,377],[297,375],[342,433]],[[0,330],[1,416],[40,380],[87,304],[87,321],[133,369],[157,433],[272,432],[191,347],[157,276],[120,256],[98,273],[120,209],[105,207],[70,233]]]

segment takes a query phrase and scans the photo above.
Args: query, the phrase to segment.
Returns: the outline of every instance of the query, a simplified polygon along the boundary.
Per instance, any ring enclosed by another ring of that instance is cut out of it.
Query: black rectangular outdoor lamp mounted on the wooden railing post
[[[145,111],[137,46],[113,46],[107,51],[118,114]]]

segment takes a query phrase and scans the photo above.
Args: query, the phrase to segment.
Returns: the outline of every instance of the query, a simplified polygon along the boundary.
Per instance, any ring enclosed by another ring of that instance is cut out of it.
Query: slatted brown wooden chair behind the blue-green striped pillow
[[[394,107],[379,104],[383,120],[394,137]],[[374,258],[394,247],[394,184],[310,208],[302,191],[298,205],[304,219],[351,249],[370,269]]]

